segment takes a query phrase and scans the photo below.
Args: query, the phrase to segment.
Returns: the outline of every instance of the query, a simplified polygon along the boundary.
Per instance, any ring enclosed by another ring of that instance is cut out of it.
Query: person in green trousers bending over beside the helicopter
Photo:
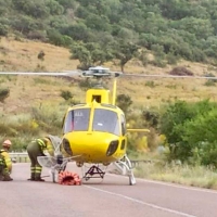
[[[54,148],[61,142],[60,138],[48,136],[41,139],[36,139],[27,145],[27,153],[30,158],[30,178],[29,181],[44,181],[41,179],[42,166],[38,163],[38,156],[46,156],[47,150],[50,156],[54,155]]]

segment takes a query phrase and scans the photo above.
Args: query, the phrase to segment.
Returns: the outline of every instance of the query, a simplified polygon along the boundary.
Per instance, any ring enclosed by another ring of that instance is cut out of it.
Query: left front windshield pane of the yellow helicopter
[[[87,131],[90,108],[77,108],[68,112],[65,118],[64,133],[71,131]]]

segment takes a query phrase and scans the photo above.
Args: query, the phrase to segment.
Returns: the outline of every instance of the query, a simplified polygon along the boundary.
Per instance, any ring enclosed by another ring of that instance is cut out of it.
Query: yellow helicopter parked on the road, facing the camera
[[[94,175],[104,177],[99,165],[114,164],[122,174],[129,176],[129,184],[136,179],[130,159],[127,156],[127,132],[148,129],[127,129],[124,112],[115,105],[116,77],[120,73],[112,73],[110,68],[97,66],[84,72],[82,77],[94,77],[99,81],[104,77],[114,77],[113,95],[101,82],[86,93],[86,103],[71,106],[63,122],[62,149],[78,167],[85,163],[93,164],[84,178],[88,180]],[[112,98],[111,98],[112,97]]]

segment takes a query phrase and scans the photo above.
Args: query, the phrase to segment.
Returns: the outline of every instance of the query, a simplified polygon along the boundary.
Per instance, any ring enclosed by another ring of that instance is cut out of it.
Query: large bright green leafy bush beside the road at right
[[[169,159],[191,162],[200,157],[205,165],[215,164],[217,153],[217,104],[204,100],[197,103],[178,101],[167,107],[161,116],[161,133],[169,145]],[[216,157],[215,157],[216,158]]]

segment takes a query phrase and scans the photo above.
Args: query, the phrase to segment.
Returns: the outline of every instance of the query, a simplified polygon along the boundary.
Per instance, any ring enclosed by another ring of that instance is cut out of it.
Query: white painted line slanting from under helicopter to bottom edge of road
[[[186,214],[186,213],[182,213],[182,212],[174,210],[174,209],[170,209],[170,208],[165,208],[165,207],[157,206],[157,205],[154,205],[154,204],[151,204],[151,203],[145,203],[143,201],[140,201],[140,200],[137,200],[137,199],[133,199],[133,197],[130,197],[130,196],[126,196],[124,194],[118,194],[118,193],[114,193],[114,192],[111,192],[111,191],[105,191],[105,190],[98,189],[98,188],[90,187],[90,186],[84,186],[84,187],[95,190],[95,191],[101,191],[101,192],[106,193],[106,194],[119,196],[119,197],[126,199],[128,201],[132,201],[135,203],[139,203],[139,204],[142,204],[142,205],[145,205],[145,206],[149,206],[149,207],[152,207],[152,208],[156,208],[156,209],[159,209],[159,210],[163,210],[163,212],[173,213],[173,214],[177,214],[179,216],[184,216],[184,217],[196,217],[196,216]]]

